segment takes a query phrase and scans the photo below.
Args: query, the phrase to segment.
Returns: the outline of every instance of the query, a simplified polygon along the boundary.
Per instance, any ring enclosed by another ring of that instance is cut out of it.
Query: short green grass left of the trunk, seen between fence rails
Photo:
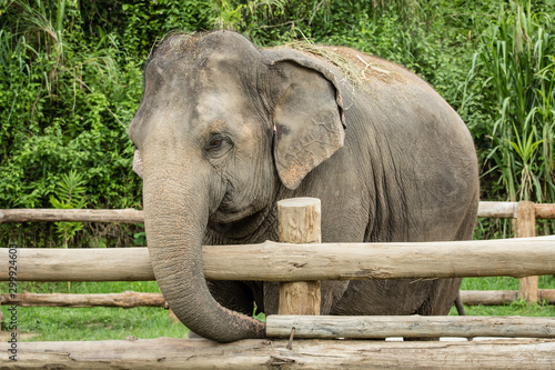
[[[6,283],[0,283],[4,289]],[[21,290],[33,293],[53,293],[65,290],[65,283],[20,282]],[[73,282],[73,293],[113,293],[127,290],[155,292],[160,289],[155,281],[134,282]],[[2,311],[7,306],[2,306]],[[8,317],[8,316],[7,316]],[[4,328],[7,329],[7,328]],[[20,307],[18,309],[19,340],[60,341],[60,340],[108,340],[137,338],[173,337],[183,338],[188,329],[181,323],[171,323],[168,310],[161,307],[138,307],[131,309],[94,307]],[[31,337],[26,337],[29,334]]]

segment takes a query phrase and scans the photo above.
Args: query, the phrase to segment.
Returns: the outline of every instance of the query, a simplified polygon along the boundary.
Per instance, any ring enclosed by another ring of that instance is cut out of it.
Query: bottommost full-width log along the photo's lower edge
[[[20,342],[3,369],[553,369],[555,340],[367,341],[158,338],[73,342]],[[10,343],[0,343],[7,353]],[[8,354],[11,354],[8,352]],[[7,359],[8,354],[3,354]]]

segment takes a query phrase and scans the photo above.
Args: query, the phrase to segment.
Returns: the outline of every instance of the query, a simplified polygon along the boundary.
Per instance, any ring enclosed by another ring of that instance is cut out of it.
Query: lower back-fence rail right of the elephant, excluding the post
[[[519,299],[518,290],[461,290],[461,299],[466,306],[509,304]],[[555,289],[539,289],[538,300],[555,304]]]

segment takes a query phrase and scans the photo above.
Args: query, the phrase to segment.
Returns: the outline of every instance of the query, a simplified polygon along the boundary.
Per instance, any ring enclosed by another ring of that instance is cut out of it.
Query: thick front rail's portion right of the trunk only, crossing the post
[[[206,250],[203,258],[204,271],[214,280],[239,274],[242,280],[264,281],[519,278],[555,271],[555,237],[425,243],[265,242],[243,246],[241,251],[234,246],[221,246],[218,253]],[[231,261],[233,257],[236,260]],[[232,273],[225,271],[230,266],[235,269]]]

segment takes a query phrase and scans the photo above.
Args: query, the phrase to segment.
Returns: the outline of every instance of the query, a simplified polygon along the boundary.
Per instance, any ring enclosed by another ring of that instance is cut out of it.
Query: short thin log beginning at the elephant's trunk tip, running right
[[[555,338],[554,318],[464,316],[282,316],[266,317],[266,336],[373,339],[438,337]]]

